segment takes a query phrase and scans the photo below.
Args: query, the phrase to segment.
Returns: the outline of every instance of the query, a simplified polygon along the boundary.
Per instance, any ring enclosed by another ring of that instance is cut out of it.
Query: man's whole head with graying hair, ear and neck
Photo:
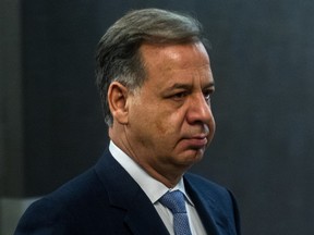
[[[169,187],[203,158],[215,133],[214,78],[200,33],[191,17],[148,9],[126,14],[99,44],[109,136]]]

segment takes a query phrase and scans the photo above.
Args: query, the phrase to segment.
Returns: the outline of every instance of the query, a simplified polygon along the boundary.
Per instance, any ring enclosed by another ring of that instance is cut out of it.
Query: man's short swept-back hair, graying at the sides
[[[143,9],[126,13],[102,36],[96,55],[96,84],[100,92],[106,123],[111,126],[107,91],[112,82],[134,90],[146,79],[140,47],[148,44],[186,44],[206,40],[202,25],[190,15],[159,9]],[[205,44],[206,45],[206,44]]]

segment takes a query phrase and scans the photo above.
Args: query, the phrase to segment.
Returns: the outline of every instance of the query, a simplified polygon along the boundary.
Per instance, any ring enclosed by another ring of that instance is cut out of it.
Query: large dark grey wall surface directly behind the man
[[[243,234],[314,233],[314,1],[21,3],[23,187],[15,196],[49,193],[98,159],[108,138],[96,45],[125,11],[158,7],[195,15],[213,45],[217,134],[192,171],[233,190]]]

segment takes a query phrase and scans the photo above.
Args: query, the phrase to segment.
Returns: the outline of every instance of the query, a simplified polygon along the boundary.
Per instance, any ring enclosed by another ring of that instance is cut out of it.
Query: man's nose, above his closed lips
[[[186,120],[190,124],[202,123],[208,125],[208,127],[215,126],[210,100],[207,101],[203,92],[191,97]]]

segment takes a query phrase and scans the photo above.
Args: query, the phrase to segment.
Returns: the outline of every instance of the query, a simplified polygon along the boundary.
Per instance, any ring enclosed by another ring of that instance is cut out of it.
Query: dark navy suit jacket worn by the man
[[[237,205],[226,188],[189,173],[184,184],[209,235],[240,234]],[[94,168],[34,202],[14,234],[169,233],[146,194],[107,151]]]

